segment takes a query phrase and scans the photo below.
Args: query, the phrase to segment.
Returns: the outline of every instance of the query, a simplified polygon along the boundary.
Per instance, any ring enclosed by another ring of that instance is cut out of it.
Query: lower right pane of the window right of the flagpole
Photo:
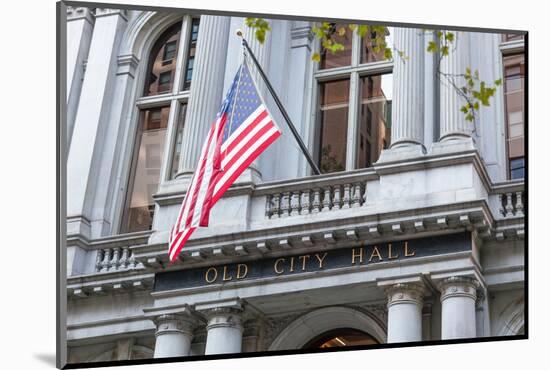
[[[391,99],[393,76],[361,78],[357,168],[370,167],[391,142]]]

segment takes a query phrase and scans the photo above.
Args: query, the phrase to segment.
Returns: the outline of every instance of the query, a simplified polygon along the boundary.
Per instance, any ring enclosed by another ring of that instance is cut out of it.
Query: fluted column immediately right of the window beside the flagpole
[[[422,30],[396,28],[393,67],[391,148],[422,145],[424,140],[424,36]]]

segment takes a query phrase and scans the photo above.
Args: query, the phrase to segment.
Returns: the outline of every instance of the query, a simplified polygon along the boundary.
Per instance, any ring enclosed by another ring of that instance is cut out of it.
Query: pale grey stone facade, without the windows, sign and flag
[[[502,89],[483,108],[480,137],[458,111],[457,97],[434,88],[433,60],[385,62],[394,78],[393,142],[372,167],[320,176],[308,175],[266,97],[284,139],[243,173],[212,210],[211,226],[197,230],[169,264],[168,232],[241,61],[233,34],[244,20],[201,17],[193,71],[200,83],[181,96],[189,104],[183,160],[174,179],[161,175],[152,230],[123,234],[118,225],[148,53],[163,30],[187,16],[69,8],[67,17],[69,362],[297,349],[338,328],[361,330],[380,343],[523,333],[526,204],[523,180],[506,179]],[[311,53],[318,45],[310,27],[272,21],[267,44],[252,46],[311,146],[317,68]],[[501,36],[459,34],[442,67],[476,68],[477,48],[492,58],[479,69],[491,65],[499,75]],[[396,29],[394,42],[409,55],[424,55],[428,38]],[[162,156],[163,174],[169,158]],[[395,261],[390,252],[377,264],[155,288],[158,274],[170,271],[313,259],[464,232],[471,235],[468,251]]]

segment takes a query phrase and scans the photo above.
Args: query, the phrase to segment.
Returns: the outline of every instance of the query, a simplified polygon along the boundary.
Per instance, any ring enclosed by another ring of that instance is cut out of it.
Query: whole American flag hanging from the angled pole
[[[279,136],[281,130],[262,102],[245,61],[203,144],[197,169],[170,233],[170,262],[178,258],[197,227],[208,226],[214,204]]]

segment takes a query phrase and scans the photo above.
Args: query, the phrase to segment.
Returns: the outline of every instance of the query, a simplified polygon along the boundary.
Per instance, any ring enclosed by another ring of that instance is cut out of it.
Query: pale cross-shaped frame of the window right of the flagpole
[[[361,63],[361,37],[357,32],[353,32],[351,47],[351,64],[349,66],[320,69],[320,62],[312,61],[312,87],[311,99],[313,102],[310,107],[309,123],[309,147],[313,150],[313,158],[319,158],[319,140],[320,140],[320,88],[322,82],[330,82],[342,79],[349,79],[349,107],[347,122],[347,146],[346,146],[346,171],[356,169],[357,165],[357,146],[360,117],[360,98],[361,98],[361,78],[366,76],[376,76],[383,74],[393,74],[394,61],[382,60],[370,63]],[[321,43],[319,40],[314,43],[312,52],[320,52]],[[309,172],[311,170],[308,170]],[[311,172],[310,172],[311,173]]]

